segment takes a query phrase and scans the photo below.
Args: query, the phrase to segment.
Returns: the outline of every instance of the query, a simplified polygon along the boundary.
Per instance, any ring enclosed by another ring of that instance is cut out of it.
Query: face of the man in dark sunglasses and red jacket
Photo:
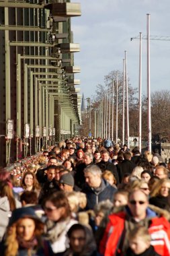
[[[134,191],[134,193],[130,195],[128,207],[134,218],[143,220],[146,217],[147,206],[148,200],[142,191]]]

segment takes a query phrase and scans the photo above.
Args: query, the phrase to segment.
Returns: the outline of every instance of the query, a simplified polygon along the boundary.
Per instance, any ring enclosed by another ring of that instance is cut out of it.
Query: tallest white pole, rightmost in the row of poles
[[[151,141],[151,84],[150,84],[150,14],[147,14],[147,96],[148,96],[148,150],[152,152]]]

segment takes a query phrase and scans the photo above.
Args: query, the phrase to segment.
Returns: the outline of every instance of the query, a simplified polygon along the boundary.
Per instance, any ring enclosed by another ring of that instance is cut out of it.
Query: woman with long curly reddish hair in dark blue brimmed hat
[[[42,241],[44,224],[31,207],[13,210],[5,237],[0,245],[3,256],[52,255],[49,243]]]

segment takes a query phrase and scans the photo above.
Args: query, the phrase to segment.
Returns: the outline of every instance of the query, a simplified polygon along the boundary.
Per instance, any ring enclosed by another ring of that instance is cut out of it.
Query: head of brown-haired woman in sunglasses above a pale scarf
[[[54,222],[65,220],[65,218],[71,216],[69,201],[64,191],[52,193],[47,197],[44,203],[44,211],[47,218]]]

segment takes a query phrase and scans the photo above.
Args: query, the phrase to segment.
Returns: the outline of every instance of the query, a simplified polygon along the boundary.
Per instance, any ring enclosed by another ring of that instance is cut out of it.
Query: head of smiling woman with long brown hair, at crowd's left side
[[[40,185],[33,172],[25,172],[22,179],[22,187],[25,191],[35,191],[37,195],[40,195]]]

